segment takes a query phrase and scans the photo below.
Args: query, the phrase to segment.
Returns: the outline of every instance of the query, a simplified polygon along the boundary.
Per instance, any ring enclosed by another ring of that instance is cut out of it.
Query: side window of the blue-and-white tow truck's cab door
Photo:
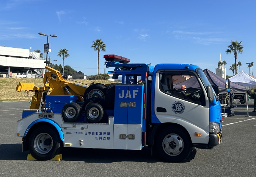
[[[163,93],[205,106],[205,97],[201,85],[193,73],[160,73],[159,87]]]

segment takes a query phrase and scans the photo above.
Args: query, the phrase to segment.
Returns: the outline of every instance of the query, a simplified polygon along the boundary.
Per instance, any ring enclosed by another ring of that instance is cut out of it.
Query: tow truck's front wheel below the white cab
[[[188,157],[191,148],[190,136],[177,127],[166,127],[157,136],[156,149],[165,161],[182,161]]]

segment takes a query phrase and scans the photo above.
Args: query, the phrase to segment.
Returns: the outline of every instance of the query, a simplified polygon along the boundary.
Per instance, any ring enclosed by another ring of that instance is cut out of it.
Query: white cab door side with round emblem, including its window
[[[158,71],[154,113],[161,123],[172,122],[185,127],[193,143],[207,144],[209,104],[202,85],[194,71]],[[195,132],[201,133],[202,137],[195,137]]]

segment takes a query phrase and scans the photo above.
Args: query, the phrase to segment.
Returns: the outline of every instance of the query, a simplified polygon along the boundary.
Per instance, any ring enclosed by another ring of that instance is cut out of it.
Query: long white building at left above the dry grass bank
[[[46,64],[45,59],[40,58],[40,53],[30,51],[29,49],[0,47],[0,74],[17,77],[42,76]],[[14,75],[14,73],[16,75]]]

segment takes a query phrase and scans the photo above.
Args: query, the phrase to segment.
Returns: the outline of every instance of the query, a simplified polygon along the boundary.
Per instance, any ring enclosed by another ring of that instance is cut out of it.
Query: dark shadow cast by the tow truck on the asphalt
[[[29,151],[22,152],[21,144],[0,144],[0,160],[27,160]],[[63,160],[84,161],[85,163],[113,163],[121,161],[164,162],[157,155],[151,156],[151,148],[136,150],[63,148]],[[196,149],[182,163],[195,158]]]

